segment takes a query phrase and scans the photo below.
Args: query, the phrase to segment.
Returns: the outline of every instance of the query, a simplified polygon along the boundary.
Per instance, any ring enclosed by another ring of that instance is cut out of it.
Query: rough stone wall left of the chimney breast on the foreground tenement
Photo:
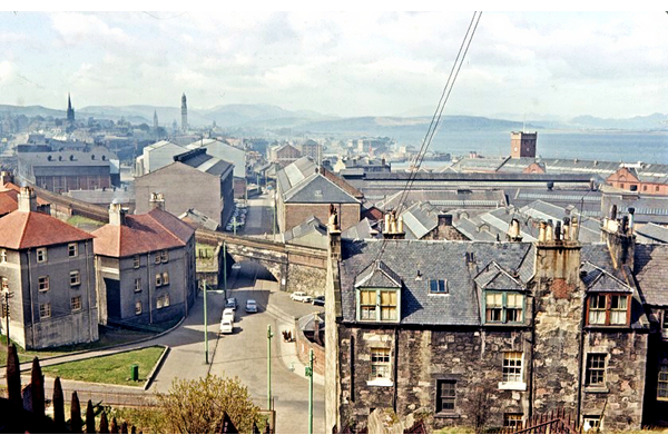
[[[489,397],[488,426],[503,425],[503,414],[527,414],[529,392],[503,387],[503,357],[507,352],[530,356],[528,332],[357,329],[342,327],[338,372],[340,417],[358,426],[371,411],[394,407],[400,418],[424,408],[434,412],[436,384],[455,383],[455,408],[428,419],[432,428],[472,425],[479,395]],[[391,385],[370,384],[371,348],[391,350]],[[354,356],[351,356],[353,350]],[[399,360],[399,363],[396,362]],[[528,368],[524,366],[524,368]],[[397,372],[399,375],[394,375]],[[528,376],[524,376],[527,382]],[[521,386],[521,385],[520,385]],[[353,389],[354,388],[354,389]]]

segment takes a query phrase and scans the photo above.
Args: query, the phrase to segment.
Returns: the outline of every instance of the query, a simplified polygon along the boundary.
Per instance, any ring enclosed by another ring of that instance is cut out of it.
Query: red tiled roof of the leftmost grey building
[[[39,211],[19,211],[0,218],[0,246],[10,249],[52,246],[91,239],[92,235]]]

